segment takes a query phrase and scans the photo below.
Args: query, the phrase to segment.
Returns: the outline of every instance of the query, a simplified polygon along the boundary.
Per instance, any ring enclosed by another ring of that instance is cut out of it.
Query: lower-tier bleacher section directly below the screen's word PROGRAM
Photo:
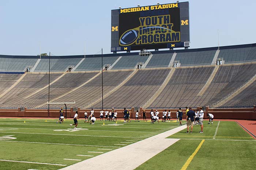
[[[105,98],[105,108],[131,108],[143,106],[162,85],[170,69],[138,70],[123,86]],[[93,108],[101,108],[102,101]]]

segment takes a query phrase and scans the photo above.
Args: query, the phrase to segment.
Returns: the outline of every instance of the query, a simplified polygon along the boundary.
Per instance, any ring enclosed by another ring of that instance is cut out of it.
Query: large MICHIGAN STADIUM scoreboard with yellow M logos
[[[111,52],[189,45],[188,2],[111,11]]]

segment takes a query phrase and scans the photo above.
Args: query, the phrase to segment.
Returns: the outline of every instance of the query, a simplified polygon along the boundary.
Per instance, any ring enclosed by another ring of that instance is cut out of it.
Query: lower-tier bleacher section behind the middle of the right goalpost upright
[[[103,94],[108,93],[118,84],[122,83],[130,74],[132,70],[128,71],[103,71]],[[94,78],[91,82],[78,88],[67,96],[63,96],[59,99],[52,100],[51,102],[74,102],[76,104],[69,104],[69,107],[86,107],[89,103],[101,98],[101,74]],[[48,107],[48,105],[41,106],[42,108]],[[54,107],[60,107],[61,104],[54,105]],[[53,107],[53,106],[52,106]]]

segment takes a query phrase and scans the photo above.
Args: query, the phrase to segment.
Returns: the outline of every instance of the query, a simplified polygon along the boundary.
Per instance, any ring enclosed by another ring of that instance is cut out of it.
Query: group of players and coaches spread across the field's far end
[[[185,115],[187,115],[188,111],[189,111],[189,109],[186,107],[186,114]],[[195,113],[195,116],[194,116],[195,119],[193,119],[193,124],[194,125],[195,124],[202,125],[201,121],[200,121],[200,119],[203,118],[203,110],[202,110],[202,108],[199,108],[199,110],[197,112],[196,111],[193,111],[193,112]],[[100,111],[100,116],[99,116],[100,120],[99,121],[104,121],[103,120],[103,114],[104,114],[104,111],[102,109]],[[130,120],[130,111],[128,109],[124,108],[123,114],[124,114],[124,123],[131,122],[131,120]],[[147,121],[146,111],[143,110],[142,114],[143,114],[143,121]],[[159,123],[159,114],[160,113],[157,110],[154,112],[153,109],[151,109],[151,112],[150,112],[151,121],[150,121],[150,123],[154,123],[156,121]],[[85,118],[84,122],[88,122],[90,124],[94,124],[95,121],[96,121],[96,118],[94,116],[94,110],[91,109],[90,115],[88,117],[87,117],[87,115],[88,115],[87,112],[84,112],[84,118]],[[139,121],[139,116],[140,116],[139,115],[139,111],[137,110],[136,114],[135,114],[135,122],[136,121],[140,122]],[[179,120],[180,126],[182,125],[182,122],[181,122],[182,121],[182,116],[183,116],[183,112],[182,112],[181,108],[179,108],[179,110],[176,112],[176,118],[177,118],[177,122]],[[209,123],[208,124],[210,124],[210,123],[213,124],[214,116],[212,114],[210,114],[210,113],[208,113],[207,116],[209,117]],[[162,122],[170,122],[171,118],[172,117],[171,117],[170,110],[168,112],[166,110],[164,110],[163,113],[162,113]],[[74,124],[70,124],[70,127],[72,125],[75,125],[74,129],[76,129],[76,127],[78,125],[78,120],[77,119],[79,119],[78,118],[78,111],[76,111],[76,113],[74,115]],[[64,121],[63,108],[61,107],[59,121],[57,121],[56,123],[63,123],[63,121]],[[112,108],[111,111],[108,111],[106,109],[106,111],[105,111],[105,121],[117,121],[117,112],[116,112],[116,110],[114,110],[114,108]]]

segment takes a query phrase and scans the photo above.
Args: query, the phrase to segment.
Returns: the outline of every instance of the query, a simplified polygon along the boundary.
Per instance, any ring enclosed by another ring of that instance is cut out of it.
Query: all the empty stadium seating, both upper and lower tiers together
[[[174,52],[176,55],[173,55]],[[220,47],[218,58],[223,58],[226,63],[221,66],[212,64],[215,54],[216,49],[213,48],[155,51],[150,56],[107,54],[103,57],[103,65],[110,64],[112,67],[103,71],[103,107],[139,108],[154,95],[156,98],[147,108],[213,106],[256,75],[256,44]],[[175,59],[172,59],[173,56]],[[37,65],[24,77],[15,72],[0,74],[0,108],[48,108],[49,75],[46,71],[49,59],[47,56],[38,59],[38,56],[29,56],[24,60],[20,60],[20,56],[0,56],[0,72],[2,68],[7,73],[8,70],[22,72],[28,66],[26,63]],[[171,60],[179,60],[184,67],[168,67]],[[137,63],[147,65],[135,72]],[[70,66],[74,66],[75,71],[65,72]],[[76,104],[69,104],[68,107],[101,108],[101,67],[100,56],[53,56],[50,64],[50,102],[75,101]],[[212,81],[200,94],[217,67]],[[172,76],[166,80],[172,71]],[[253,82],[218,107],[252,107],[256,104],[255,85]],[[162,90],[158,92],[160,87]],[[51,108],[61,106],[50,105]]]

